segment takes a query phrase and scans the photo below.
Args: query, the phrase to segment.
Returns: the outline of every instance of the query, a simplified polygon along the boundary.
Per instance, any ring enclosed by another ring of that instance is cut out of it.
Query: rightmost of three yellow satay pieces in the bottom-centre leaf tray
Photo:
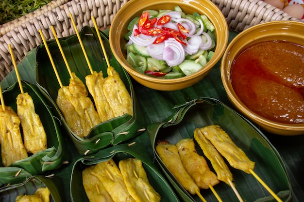
[[[150,185],[140,160],[136,158],[120,160],[118,167],[129,193],[136,202],[160,202],[161,196]]]

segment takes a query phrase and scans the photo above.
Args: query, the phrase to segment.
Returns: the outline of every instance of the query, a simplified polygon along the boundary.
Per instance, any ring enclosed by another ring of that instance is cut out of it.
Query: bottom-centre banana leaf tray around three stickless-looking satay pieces
[[[140,142],[135,142],[130,146],[128,143],[119,144],[103,149],[90,157],[80,158],[74,164],[71,175],[70,194],[72,202],[88,202],[82,184],[82,171],[86,166],[95,165],[111,158],[118,163],[120,160],[130,157],[137,158],[143,163],[150,184],[162,197],[161,202],[179,202],[160,169],[153,163],[153,156],[147,152],[146,146]]]

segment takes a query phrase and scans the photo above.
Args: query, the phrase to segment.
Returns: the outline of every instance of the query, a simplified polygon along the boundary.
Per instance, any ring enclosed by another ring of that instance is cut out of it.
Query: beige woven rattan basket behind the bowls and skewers
[[[53,37],[51,25],[58,37],[75,34],[69,13],[76,19],[77,29],[94,26],[94,16],[101,29],[109,27],[117,11],[128,0],[53,0],[34,13],[20,17],[0,26],[0,80],[14,66],[8,44],[11,44],[16,62],[20,62],[27,52],[42,43],[39,30],[47,40]],[[212,0],[227,19],[231,30],[243,31],[253,25],[274,20],[295,20],[280,9],[261,0]]]

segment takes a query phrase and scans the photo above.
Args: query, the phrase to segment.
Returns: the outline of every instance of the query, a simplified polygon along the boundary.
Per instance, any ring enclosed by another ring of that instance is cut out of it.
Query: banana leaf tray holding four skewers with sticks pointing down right
[[[199,98],[175,107],[176,112],[164,122],[151,124],[147,127],[154,155],[170,183],[185,202],[200,202],[197,195],[190,195],[175,179],[155,151],[158,140],[167,140],[176,144],[179,140],[193,138],[196,128],[210,124],[220,125],[231,139],[246,155],[255,162],[254,172],[268,185],[284,202],[292,199],[292,190],[284,163],[266,137],[249,121],[234,110],[213,98]],[[196,143],[198,154],[203,151]],[[206,158],[207,159],[207,158]],[[207,160],[208,161],[208,160]],[[210,163],[209,163],[210,164]],[[212,170],[212,166],[209,165]],[[234,176],[236,190],[244,201],[272,202],[275,201],[270,193],[253,177],[243,171],[229,166]],[[220,182],[214,186],[220,198],[225,202],[236,202],[233,189]],[[210,189],[201,189],[201,194],[208,202],[216,202]]]

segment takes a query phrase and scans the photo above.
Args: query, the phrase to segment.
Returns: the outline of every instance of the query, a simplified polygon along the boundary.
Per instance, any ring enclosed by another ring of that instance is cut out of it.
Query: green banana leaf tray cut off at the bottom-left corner
[[[22,173],[23,171],[21,171]],[[24,178],[21,173],[15,178]],[[51,192],[50,202],[66,202],[63,193],[62,181],[58,177],[44,177],[41,175],[28,176],[21,183],[4,186],[0,188],[0,202],[16,202],[16,198],[20,194],[34,194],[37,188],[48,187]]]

